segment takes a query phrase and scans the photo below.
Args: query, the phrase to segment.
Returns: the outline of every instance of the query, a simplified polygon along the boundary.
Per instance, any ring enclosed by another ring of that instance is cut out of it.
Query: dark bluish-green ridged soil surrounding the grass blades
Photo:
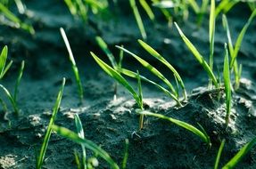
[[[145,17],[147,43],[161,52],[178,69],[189,92],[184,107],[177,108],[174,102],[158,89],[144,83],[145,109],[186,121],[194,126],[199,123],[211,137],[212,145],[211,149],[208,149],[194,134],[153,117],[145,117],[144,129],[136,132],[138,116],[135,113],[136,103],[131,95],[118,86],[117,100],[113,101],[114,81],[89,55],[89,52],[93,51],[101,58],[105,57],[95,44],[97,35],[103,37],[112,52],[119,52],[114,47],[115,44],[124,44],[128,50],[149,60],[171,78],[169,71],[143,52],[136,43],[140,34],[132,12],[127,7],[128,1],[119,1],[119,8],[111,8],[111,12],[104,13],[101,17],[90,15],[87,25],[74,19],[62,1],[27,0],[24,3],[31,15],[26,20],[33,24],[36,35],[30,36],[20,29],[0,27],[0,46],[8,45],[9,59],[14,61],[1,84],[12,91],[21,60],[26,61],[18,96],[21,109],[19,117],[13,115],[11,105],[1,92],[1,98],[6,101],[8,111],[0,111],[0,168],[35,168],[36,153],[43,141],[62,77],[67,78],[67,84],[56,125],[75,131],[74,114],[78,113],[87,139],[101,145],[118,164],[121,164],[124,141],[128,138],[127,168],[213,168],[220,141],[226,139],[220,159],[220,166],[223,166],[246,142],[255,137],[255,21],[244,36],[239,52],[238,61],[243,64],[243,78],[239,90],[233,94],[231,120],[226,126],[224,91],[207,90],[206,73],[186,49],[176,28],[169,28],[160,13],[154,24]],[[250,10],[244,4],[236,5],[227,13],[233,39],[249,16]],[[180,20],[179,25],[198,50],[208,56],[206,18],[202,27],[197,28],[191,13],[189,19],[185,22]],[[82,103],[79,103],[77,85],[59,32],[61,27],[66,30],[78,63],[85,91],[85,100]],[[219,19],[216,21],[214,64],[215,69],[219,68],[220,71],[226,41],[226,34]],[[128,55],[125,55],[123,64],[125,68],[139,69],[141,74],[161,83]],[[128,80],[136,86],[136,81]],[[80,151],[77,144],[53,134],[43,168],[75,168],[74,149]],[[105,162],[99,160],[98,168],[109,168]],[[237,168],[256,168],[256,149],[252,149]]]

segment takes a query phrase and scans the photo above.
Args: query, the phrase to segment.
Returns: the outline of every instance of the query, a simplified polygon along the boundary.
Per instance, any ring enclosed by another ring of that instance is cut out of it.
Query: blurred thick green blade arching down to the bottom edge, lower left
[[[65,137],[67,139],[70,139],[71,141],[74,141],[78,144],[83,144],[87,149],[92,150],[94,153],[98,154],[98,156],[102,157],[110,166],[112,169],[119,169],[120,167],[113,161],[113,159],[110,157],[110,155],[104,151],[102,148],[97,146],[93,141],[89,141],[87,139],[81,139],[77,133],[73,133],[67,128],[52,125],[52,130],[54,130],[56,133],[62,135],[62,137]]]

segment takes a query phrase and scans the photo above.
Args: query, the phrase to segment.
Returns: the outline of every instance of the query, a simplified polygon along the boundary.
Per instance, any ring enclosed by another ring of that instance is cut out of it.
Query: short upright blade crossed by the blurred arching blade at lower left
[[[75,114],[75,124],[77,127],[77,131],[78,131],[78,136],[81,139],[85,139],[85,133],[84,133],[84,129],[83,129],[83,125],[82,122],[78,116],[78,114]],[[82,148],[82,164],[83,164],[83,168],[87,169],[87,151],[86,148],[83,144],[81,144],[81,148]]]

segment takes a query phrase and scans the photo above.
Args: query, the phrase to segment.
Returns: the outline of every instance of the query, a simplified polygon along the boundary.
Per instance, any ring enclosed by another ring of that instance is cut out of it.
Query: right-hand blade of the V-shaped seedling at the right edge
[[[246,33],[247,29],[252,23],[253,18],[256,16],[256,9],[252,12],[250,18],[247,20],[246,24],[244,25],[244,28],[242,28],[241,32],[239,33],[236,42],[235,42],[235,48],[234,48],[234,55],[231,58],[230,68],[233,68],[235,59],[237,57],[237,54],[240,50],[241,44],[244,39],[244,34]]]

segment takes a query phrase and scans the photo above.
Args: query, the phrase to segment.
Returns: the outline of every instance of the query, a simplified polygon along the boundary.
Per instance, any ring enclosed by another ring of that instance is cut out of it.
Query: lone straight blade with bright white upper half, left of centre
[[[68,37],[66,36],[66,33],[65,33],[63,28],[60,28],[60,30],[61,30],[61,34],[62,34],[62,38],[64,40],[64,43],[65,43],[65,45],[67,47],[67,50],[69,52],[69,58],[70,58],[70,62],[71,62],[71,65],[72,65],[72,70],[73,70],[73,73],[75,75],[76,82],[77,82],[77,85],[78,85],[79,98],[80,98],[80,101],[82,102],[83,98],[84,98],[84,91],[83,91],[83,85],[82,85],[82,82],[81,82],[81,79],[80,79],[80,76],[79,76],[78,67],[76,65],[76,61],[74,59],[73,52],[71,51],[71,47],[70,47]]]

